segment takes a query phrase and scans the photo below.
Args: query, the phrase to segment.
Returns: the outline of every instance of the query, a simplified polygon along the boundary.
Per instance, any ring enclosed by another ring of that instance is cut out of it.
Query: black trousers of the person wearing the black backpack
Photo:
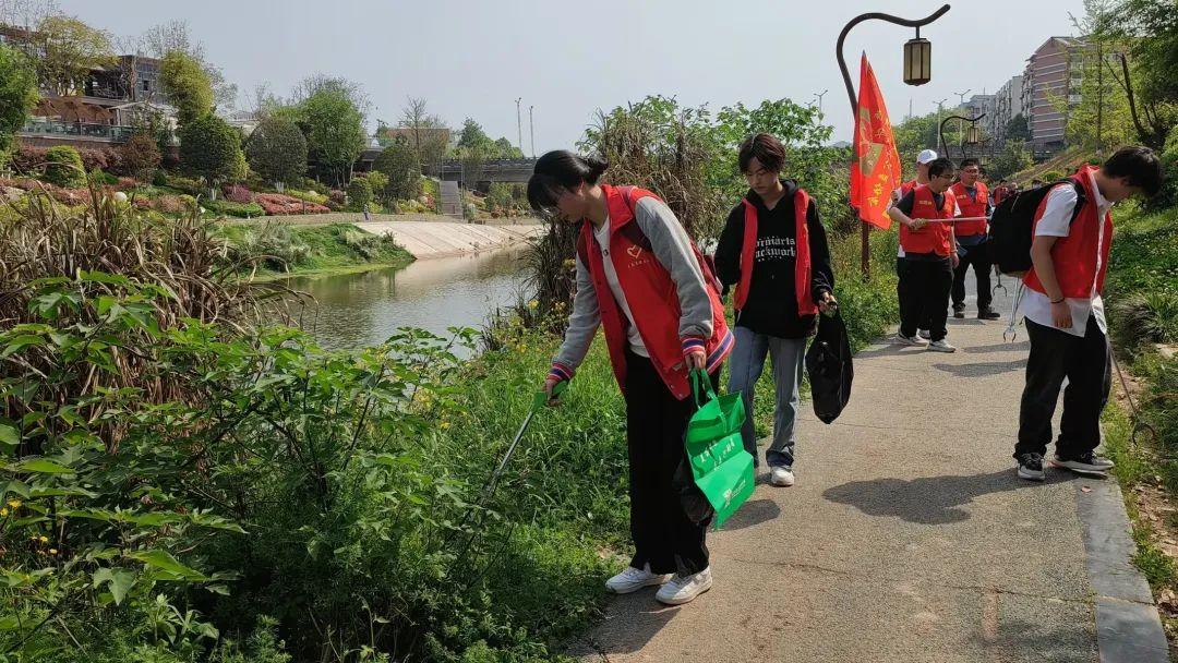
[[[1051,418],[1064,390],[1064,416],[1059,422],[1055,453],[1065,459],[1087,453],[1100,445],[1100,412],[1108,403],[1112,386],[1112,354],[1108,339],[1088,317],[1084,337],[1026,320],[1031,337],[1027,382],[1019,409],[1019,442],[1014,457],[1047,452]]]

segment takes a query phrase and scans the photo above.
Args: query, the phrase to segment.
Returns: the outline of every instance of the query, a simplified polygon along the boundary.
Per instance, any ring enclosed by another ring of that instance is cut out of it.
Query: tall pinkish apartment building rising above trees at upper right
[[[1080,101],[1087,41],[1052,37],[1027,58],[1023,72],[1023,114],[1037,152],[1052,152],[1066,142],[1068,107]]]

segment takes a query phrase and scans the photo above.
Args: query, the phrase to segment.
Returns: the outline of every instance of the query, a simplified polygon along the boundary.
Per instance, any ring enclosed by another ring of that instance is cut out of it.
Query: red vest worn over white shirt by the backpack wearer
[[[1071,232],[1067,237],[1059,238],[1051,247],[1051,259],[1055,264],[1055,279],[1059,280],[1059,289],[1064,297],[1087,299],[1092,297],[1093,286],[1096,286],[1098,294],[1104,292],[1105,272],[1108,271],[1108,250],[1112,247],[1112,214],[1106,212],[1104,218],[1099,218],[1097,212],[1097,192],[1093,191],[1091,177],[1096,170],[1098,170],[1097,166],[1083,166],[1072,175],[1071,179],[1084,187],[1084,206],[1072,220]],[[1047,198],[1044,198],[1034,216],[1037,225],[1046,206]],[[1104,226],[1104,241],[1100,241],[1101,225]],[[1099,270],[1097,270],[1097,256],[1100,257]],[[1031,271],[1023,277],[1023,281],[1035,292],[1047,293],[1035,274],[1034,267],[1031,267]]]

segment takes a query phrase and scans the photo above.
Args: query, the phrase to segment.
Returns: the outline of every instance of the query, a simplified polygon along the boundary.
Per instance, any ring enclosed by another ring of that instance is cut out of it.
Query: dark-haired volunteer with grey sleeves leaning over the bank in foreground
[[[605,588],[628,594],[660,585],[679,605],[712,588],[704,545],[710,517],[695,522],[675,483],[683,435],[695,412],[690,371],[716,385],[735,339],[708,263],[666,203],[635,186],[602,184],[608,164],[564,150],[536,160],[528,201],[580,223],[576,298],[544,391],[571,380],[603,327],[626,398],[634,557]]]

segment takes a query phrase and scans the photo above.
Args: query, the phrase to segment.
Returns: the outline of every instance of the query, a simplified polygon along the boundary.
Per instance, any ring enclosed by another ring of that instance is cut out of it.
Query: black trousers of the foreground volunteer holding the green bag
[[[626,424],[630,456],[630,565],[650,564],[655,574],[696,574],[708,566],[704,544],[710,518],[695,524],[673,486],[675,470],[687,462],[683,433],[695,402],[667,389],[650,359],[626,352]],[[717,370],[712,376],[719,384]]]

